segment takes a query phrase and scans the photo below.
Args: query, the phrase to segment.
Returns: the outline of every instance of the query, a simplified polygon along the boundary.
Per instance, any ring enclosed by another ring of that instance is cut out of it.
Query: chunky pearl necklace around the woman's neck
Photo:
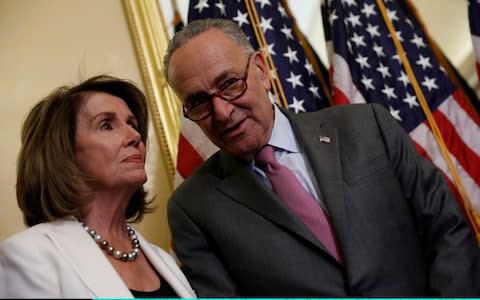
[[[82,227],[88,232],[88,234],[97,242],[97,244],[107,252],[108,255],[112,255],[118,260],[121,261],[134,261],[138,253],[140,252],[140,241],[137,239],[137,235],[135,234],[135,230],[130,225],[127,226],[127,232],[128,232],[128,237],[130,238],[130,241],[132,242],[132,251],[130,252],[123,252],[120,250],[115,249],[112,245],[107,240],[102,239],[102,236],[100,234],[97,234],[95,229],[90,228],[86,225],[83,224],[83,222],[80,222]]]

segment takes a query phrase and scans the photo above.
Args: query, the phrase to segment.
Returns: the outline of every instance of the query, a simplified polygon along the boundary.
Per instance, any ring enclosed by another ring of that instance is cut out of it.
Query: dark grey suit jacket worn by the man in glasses
[[[262,185],[251,162],[220,151],[168,203],[174,251],[197,295],[480,295],[470,227],[440,172],[383,107],[287,115],[344,264]]]

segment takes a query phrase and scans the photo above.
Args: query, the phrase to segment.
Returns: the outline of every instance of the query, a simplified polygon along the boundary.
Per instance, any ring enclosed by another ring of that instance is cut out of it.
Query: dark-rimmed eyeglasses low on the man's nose
[[[210,116],[213,110],[213,98],[220,97],[225,101],[232,101],[240,98],[247,90],[248,68],[250,66],[250,58],[253,53],[247,58],[247,67],[242,78],[231,77],[227,79],[222,87],[211,94],[201,94],[193,97],[188,104],[183,105],[183,115],[192,121],[200,121]]]

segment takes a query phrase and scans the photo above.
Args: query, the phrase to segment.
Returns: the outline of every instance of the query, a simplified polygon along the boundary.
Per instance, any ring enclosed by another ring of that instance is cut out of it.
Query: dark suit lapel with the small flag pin
[[[312,167],[315,175],[313,180],[317,180],[320,197],[327,207],[340,248],[344,249],[345,207],[337,130],[324,128],[318,117],[305,118],[290,113],[287,116]]]

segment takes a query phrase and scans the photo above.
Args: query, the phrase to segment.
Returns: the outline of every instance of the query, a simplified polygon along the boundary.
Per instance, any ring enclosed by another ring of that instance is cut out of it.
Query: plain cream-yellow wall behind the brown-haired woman
[[[142,86],[120,0],[0,1],[0,240],[24,228],[15,198],[20,126],[33,103],[55,87],[107,73]],[[153,129],[153,127],[150,127]],[[158,194],[157,211],[140,226],[169,245],[165,200],[171,193],[164,162],[151,130],[147,188]],[[157,184],[153,185],[152,182]]]

